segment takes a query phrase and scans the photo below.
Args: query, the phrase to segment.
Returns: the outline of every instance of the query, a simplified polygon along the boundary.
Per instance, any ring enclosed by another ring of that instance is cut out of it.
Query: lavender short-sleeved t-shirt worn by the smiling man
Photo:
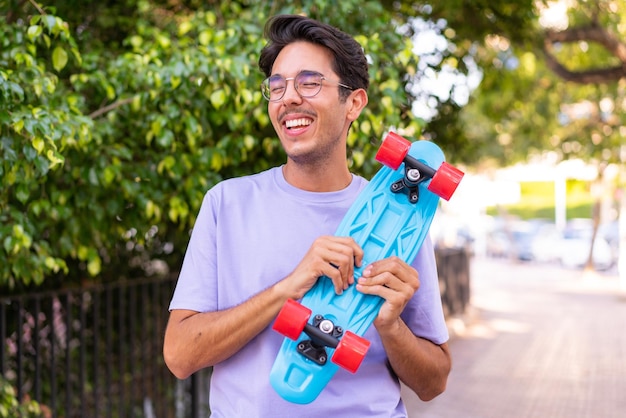
[[[216,185],[202,203],[170,310],[227,309],[285,278],[317,237],[335,232],[366,184],[353,176],[344,190],[307,192],[287,183],[276,167]],[[421,286],[402,317],[415,335],[444,343],[448,331],[429,239],[412,265]],[[283,400],[270,385],[270,369],[283,337],[268,327],[214,366],[212,416],[405,417],[400,385],[389,370],[375,327],[365,338],[371,347],[357,373],[339,369],[315,401],[298,405]]]

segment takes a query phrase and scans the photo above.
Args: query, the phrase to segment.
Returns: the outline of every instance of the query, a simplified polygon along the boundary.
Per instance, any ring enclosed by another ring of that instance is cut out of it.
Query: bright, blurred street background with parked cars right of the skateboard
[[[470,173],[438,212],[433,236],[478,256],[617,272],[621,191],[614,177],[597,177],[583,160]]]

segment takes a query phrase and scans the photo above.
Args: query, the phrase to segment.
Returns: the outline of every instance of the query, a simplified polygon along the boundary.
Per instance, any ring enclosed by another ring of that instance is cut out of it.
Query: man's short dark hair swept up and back
[[[339,29],[299,15],[279,15],[270,18],[265,25],[267,45],[261,51],[259,67],[269,77],[280,51],[290,43],[307,41],[324,46],[333,54],[333,70],[340,82],[354,89],[369,87],[367,59],[363,47],[350,35]],[[340,97],[350,91],[340,88]]]

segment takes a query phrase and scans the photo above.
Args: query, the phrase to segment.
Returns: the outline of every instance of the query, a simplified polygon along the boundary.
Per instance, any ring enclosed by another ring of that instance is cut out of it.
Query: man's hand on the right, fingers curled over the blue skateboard
[[[397,324],[400,314],[419,289],[417,271],[398,257],[373,262],[359,278],[357,290],[385,299],[374,325],[379,333]]]

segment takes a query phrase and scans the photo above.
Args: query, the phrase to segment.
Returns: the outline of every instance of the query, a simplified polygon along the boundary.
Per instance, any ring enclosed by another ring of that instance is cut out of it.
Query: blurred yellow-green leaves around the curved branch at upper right
[[[566,30],[589,27],[595,21],[603,25],[604,33],[623,38],[626,33],[620,33],[619,14],[608,4],[618,7],[616,2],[581,2],[580,7],[571,7]],[[626,9],[620,7],[619,12],[624,14]],[[536,30],[545,33],[539,26]],[[592,41],[561,43],[555,48],[556,58],[580,77],[590,68],[601,72],[615,65],[615,57]],[[460,120],[470,142],[492,144],[483,148],[484,156],[506,164],[550,150],[559,160],[582,158],[601,169],[620,163],[626,135],[623,81],[564,81],[545,59],[543,42],[515,43],[490,36],[480,54],[480,62],[494,65],[482,67],[483,82]]]

